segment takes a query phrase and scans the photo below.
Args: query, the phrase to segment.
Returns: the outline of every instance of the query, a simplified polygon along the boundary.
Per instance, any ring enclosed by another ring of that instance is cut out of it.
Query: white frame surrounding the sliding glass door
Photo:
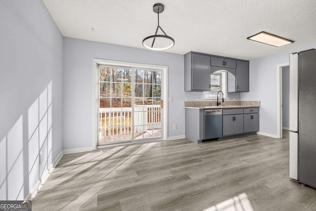
[[[135,142],[148,142],[149,140],[145,141],[132,141],[132,142],[125,142],[125,143],[118,143],[118,144],[109,144],[109,145],[102,145],[98,146],[98,65],[111,65],[111,66],[123,66],[123,67],[131,67],[131,68],[144,68],[144,69],[156,69],[161,70],[164,74],[163,77],[163,124],[161,125],[161,138],[162,140],[167,139],[167,128],[168,128],[168,66],[162,65],[153,65],[153,64],[142,64],[142,63],[133,63],[133,62],[122,62],[122,61],[113,61],[113,60],[106,60],[106,59],[93,59],[93,66],[92,66],[92,148],[95,150],[101,147],[109,147],[109,146],[116,146],[116,145],[125,145],[125,144],[133,144]],[[156,141],[156,140],[155,140]]]

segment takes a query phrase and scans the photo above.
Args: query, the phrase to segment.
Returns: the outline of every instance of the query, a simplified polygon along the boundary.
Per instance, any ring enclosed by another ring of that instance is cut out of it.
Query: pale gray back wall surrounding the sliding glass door
[[[64,38],[64,149],[92,147],[93,58],[168,66],[168,137],[185,134],[184,56]],[[177,124],[177,130],[173,130]]]

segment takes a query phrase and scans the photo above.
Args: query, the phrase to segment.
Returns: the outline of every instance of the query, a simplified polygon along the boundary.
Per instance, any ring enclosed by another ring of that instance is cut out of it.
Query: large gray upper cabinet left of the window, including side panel
[[[210,59],[207,54],[189,52],[184,55],[185,91],[208,91]]]

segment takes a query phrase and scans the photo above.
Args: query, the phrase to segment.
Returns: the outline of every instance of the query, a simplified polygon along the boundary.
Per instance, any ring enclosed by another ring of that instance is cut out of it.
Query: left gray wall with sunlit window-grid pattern
[[[0,26],[0,200],[22,200],[62,151],[63,39],[41,0],[1,0]]]

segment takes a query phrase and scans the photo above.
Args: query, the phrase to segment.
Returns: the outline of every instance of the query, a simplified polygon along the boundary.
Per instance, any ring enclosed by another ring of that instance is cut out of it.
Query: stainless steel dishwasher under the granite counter
[[[222,137],[222,109],[204,109],[204,139]]]

